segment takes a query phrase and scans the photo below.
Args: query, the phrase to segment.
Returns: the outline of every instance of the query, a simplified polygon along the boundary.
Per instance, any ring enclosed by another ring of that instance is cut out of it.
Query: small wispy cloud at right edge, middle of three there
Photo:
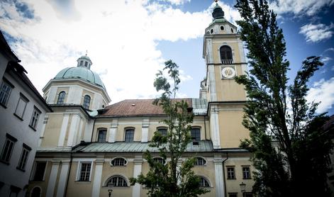
[[[322,23],[313,25],[307,24],[301,27],[299,33],[304,34],[306,37],[306,42],[319,42],[321,40],[326,40],[332,37],[334,24],[330,23],[329,26],[325,26]]]

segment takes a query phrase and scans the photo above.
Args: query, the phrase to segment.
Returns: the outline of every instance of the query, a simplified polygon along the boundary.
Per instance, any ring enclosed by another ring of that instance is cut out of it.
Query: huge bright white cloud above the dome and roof
[[[88,50],[91,69],[101,74],[113,103],[157,96],[152,83],[165,62],[159,40],[200,38],[211,23],[211,9],[189,13],[163,1],[77,0],[67,3],[70,10],[54,0],[25,1],[35,18],[23,18],[13,2],[3,2],[0,28],[20,40],[10,45],[36,88],[41,91],[61,69],[76,67]],[[230,6],[223,9],[228,20],[240,17]],[[182,73],[182,81],[191,79]]]

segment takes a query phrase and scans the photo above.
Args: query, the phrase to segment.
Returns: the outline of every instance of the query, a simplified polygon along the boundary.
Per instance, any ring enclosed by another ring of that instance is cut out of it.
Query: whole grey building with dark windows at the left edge
[[[40,130],[51,109],[0,32],[0,196],[25,196]]]

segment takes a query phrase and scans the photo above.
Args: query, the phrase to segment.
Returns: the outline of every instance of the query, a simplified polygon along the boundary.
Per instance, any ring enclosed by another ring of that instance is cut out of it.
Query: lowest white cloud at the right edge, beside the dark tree
[[[321,79],[313,84],[313,87],[308,91],[306,96],[308,102],[321,102],[317,112],[323,113],[332,108],[334,104],[334,77],[325,81]]]

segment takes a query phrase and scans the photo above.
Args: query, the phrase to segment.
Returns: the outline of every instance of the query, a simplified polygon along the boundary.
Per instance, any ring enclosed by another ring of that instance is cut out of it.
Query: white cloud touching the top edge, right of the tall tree
[[[313,16],[323,7],[330,7],[334,0],[275,0],[269,4],[271,9],[278,14],[294,13],[295,15]]]

